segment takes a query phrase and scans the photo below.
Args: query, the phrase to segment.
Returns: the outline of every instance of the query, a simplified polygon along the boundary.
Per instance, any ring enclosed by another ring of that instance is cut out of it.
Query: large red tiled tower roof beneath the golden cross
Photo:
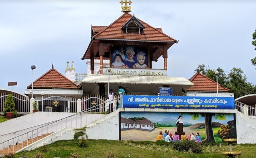
[[[113,39],[113,40],[132,40],[132,41],[163,41],[163,42],[177,42],[174,38],[164,34],[160,28],[154,28],[146,22],[138,19],[145,29],[141,31],[141,34],[137,30],[122,30],[123,25],[132,18],[131,14],[124,13],[117,20],[115,20],[108,27],[104,28],[101,32],[94,35],[95,39]],[[102,29],[102,27],[93,27],[96,30]]]

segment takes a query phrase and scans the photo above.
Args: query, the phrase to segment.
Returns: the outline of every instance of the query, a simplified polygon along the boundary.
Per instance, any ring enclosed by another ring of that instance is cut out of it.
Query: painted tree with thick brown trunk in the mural
[[[192,120],[198,120],[200,117],[204,117],[204,129],[205,139],[204,142],[216,142],[212,128],[212,117],[215,116],[216,120],[226,120],[225,116],[230,114],[224,113],[181,113],[181,115],[192,115]]]

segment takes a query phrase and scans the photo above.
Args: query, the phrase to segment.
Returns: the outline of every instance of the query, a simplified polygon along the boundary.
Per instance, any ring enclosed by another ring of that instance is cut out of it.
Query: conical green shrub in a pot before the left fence
[[[11,94],[8,94],[4,102],[3,113],[6,116],[6,118],[12,118],[14,111],[15,111],[14,99]]]

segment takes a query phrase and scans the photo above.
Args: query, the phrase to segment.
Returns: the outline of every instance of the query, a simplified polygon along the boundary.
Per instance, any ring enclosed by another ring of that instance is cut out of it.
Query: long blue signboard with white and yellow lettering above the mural
[[[234,98],[123,95],[123,107],[168,109],[234,109]]]

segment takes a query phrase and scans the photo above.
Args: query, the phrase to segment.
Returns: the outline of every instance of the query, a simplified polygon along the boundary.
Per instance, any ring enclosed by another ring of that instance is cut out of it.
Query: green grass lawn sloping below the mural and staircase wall
[[[47,152],[42,152],[42,147],[25,153],[16,154],[16,158],[26,156],[32,158],[36,153],[43,153],[45,158],[68,158],[71,153],[76,153],[81,158],[90,153],[93,158],[105,158],[110,152],[115,158],[224,158],[220,152],[228,151],[227,143],[204,144],[203,154],[178,152],[173,150],[170,143],[165,142],[133,142],[112,140],[86,140],[88,147],[78,147],[78,140],[57,141],[46,146]],[[235,145],[233,151],[241,151],[242,158],[255,158],[256,144]],[[129,156],[127,156],[129,155]]]

